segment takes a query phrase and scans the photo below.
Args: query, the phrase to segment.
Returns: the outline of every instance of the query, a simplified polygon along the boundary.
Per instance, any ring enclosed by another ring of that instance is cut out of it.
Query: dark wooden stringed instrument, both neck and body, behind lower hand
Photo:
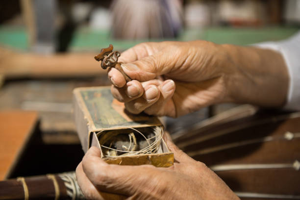
[[[242,200],[300,200],[300,112],[247,108],[222,115],[177,135],[175,144],[210,167]],[[0,182],[0,199],[28,198],[84,197],[74,173]]]

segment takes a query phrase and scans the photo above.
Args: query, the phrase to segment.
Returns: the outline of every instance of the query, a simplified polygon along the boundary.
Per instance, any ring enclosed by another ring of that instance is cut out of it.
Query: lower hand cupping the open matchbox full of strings
[[[76,169],[78,184],[88,199],[238,200],[214,172],[179,150],[165,133],[174,152],[169,168],[152,165],[109,165],[92,147]]]

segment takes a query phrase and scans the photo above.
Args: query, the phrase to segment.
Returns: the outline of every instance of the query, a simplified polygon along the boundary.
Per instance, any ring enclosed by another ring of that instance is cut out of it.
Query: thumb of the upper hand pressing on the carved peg
[[[131,79],[148,81],[169,73],[175,66],[175,59],[160,51],[131,63],[122,63],[121,66]]]

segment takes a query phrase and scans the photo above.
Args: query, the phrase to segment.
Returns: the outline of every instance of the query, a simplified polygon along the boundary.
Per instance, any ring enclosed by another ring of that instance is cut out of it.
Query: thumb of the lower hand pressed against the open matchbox
[[[171,135],[169,134],[169,132],[165,131],[164,132],[164,141],[166,142],[168,148],[174,153],[174,159],[177,162],[187,162],[187,161],[191,161],[194,160],[193,158],[191,158],[190,156],[188,156],[185,152],[183,152],[182,150],[180,150],[172,141]]]

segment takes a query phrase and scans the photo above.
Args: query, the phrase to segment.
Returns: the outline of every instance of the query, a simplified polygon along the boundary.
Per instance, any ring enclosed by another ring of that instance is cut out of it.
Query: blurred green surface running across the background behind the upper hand
[[[248,45],[263,41],[277,41],[290,37],[296,33],[296,27],[262,27],[262,28],[232,28],[210,27],[205,29],[187,29],[181,32],[178,41],[208,40],[218,44]],[[15,49],[28,50],[27,34],[25,27],[0,26],[0,45]],[[70,50],[95,51],[113,44],[116,50],[125,50],[138,43],[161,40],[114,40],[107,30],[91,30],[79,28],[72,39]]]

